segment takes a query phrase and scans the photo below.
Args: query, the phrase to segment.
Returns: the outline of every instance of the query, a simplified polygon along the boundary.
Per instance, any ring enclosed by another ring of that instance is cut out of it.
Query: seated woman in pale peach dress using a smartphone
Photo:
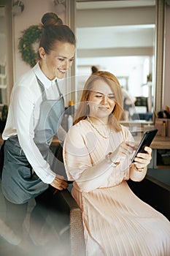
[[[142,181],[151,148],[131,164],[134,140],[119,124],[120,84],[109,72],[90,75],[63,160],[72,195],[82,209],[86,255],[170,255],[169,220],[136,197],[126,181]]]

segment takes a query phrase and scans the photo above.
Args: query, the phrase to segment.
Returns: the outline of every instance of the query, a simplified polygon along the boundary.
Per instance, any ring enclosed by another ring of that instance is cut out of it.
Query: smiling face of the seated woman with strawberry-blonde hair
[[[93,82],[88,98],[90,108],[89,116],[95,124],[107,124],[109,114],[115,108],[115,95],[104,80],[97,79]]]

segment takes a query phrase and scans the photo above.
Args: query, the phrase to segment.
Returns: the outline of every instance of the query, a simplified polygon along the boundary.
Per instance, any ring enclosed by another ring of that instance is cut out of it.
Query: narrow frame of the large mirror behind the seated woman
[[[70,4],[69,0],[66,0],[66,23],[71,29],[76,31],[76,2],[78,0],[72,0]],[[93,0],[92,0],[93,1]],[[162,0],[155,0],[155,95],[153,102],[153,118],[152,121],[147,121],[144,124],[154,124],[155,115],[154,111],[158,112],[162,109],[163,105],[163,66],[164,66],[164,18],[165,18],[165,2]],[[69,85],[69,91],[74,91],[74,99],[76,99],[75,83],[75,70],[76,70],[76,54],[75,61],[72,67],[71,76],[72,83]],[[129,123],[129,121],[128,121]],[[135,121],[134,121],[135,123]],[[142,123],[143,124],[143,123]]]

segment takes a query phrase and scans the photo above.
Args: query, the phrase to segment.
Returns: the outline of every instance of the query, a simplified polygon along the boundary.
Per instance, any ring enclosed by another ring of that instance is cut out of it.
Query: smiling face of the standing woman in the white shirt
[[[69,42],[55,42],[53,50],[50,53],[45,53],[44,48],[39,48],[39,56],[42,58],[39,61],[39,66],[47,78],[53,80],[55,77],[63,78],[67,70],[72,67],[74,61],[75,46]]]

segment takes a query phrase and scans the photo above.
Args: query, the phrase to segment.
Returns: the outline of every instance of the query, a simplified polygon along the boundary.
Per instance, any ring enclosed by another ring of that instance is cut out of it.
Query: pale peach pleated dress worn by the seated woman
[[[84,120],[69,130],[63,145],[66,173],[74,180],[72,195],[82,209],[86,255],[169,256],[169,220],[128,187],[127,162],[112,167],[112,174],[96,189],[86,192],[77,185],[84,170],[101,162],[123,140],[133,140],[126,127],[104,139]]]

